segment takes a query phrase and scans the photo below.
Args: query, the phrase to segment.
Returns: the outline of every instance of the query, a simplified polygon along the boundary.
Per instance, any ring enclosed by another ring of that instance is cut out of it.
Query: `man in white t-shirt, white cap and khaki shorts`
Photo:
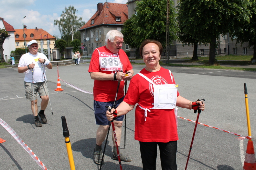
[[[20,58],[18,65],[18,72],[25,73],[24,86],[26,99],[31,101],[31,110],[35,117],[35,126],[41,127],[39,121],[41,118],[42,123],[47,123],[44,110],[46,109],[49,101],[48,89],[46,87],[45,67],[52,69],[53,66],[48,58],[38,52],[38,43],[36,40],[30,41],[28,44],[29,53],[23,54]],[[37,93],[39,93],[41,101],[41,110],[38,112],[37,108]]]

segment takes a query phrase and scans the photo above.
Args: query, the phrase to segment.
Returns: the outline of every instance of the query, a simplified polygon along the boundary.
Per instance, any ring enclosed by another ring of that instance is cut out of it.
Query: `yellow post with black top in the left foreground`
[[[65,143],[66,143],[68,157],[69,157],[70,170],[75,170],[75,164],[74,164],[71,144],[69,140],[69,129],[68,129],[65,116],[61,116],[61,121],[62,121],[62,128],[63,128],[63,136],[65,138]]]

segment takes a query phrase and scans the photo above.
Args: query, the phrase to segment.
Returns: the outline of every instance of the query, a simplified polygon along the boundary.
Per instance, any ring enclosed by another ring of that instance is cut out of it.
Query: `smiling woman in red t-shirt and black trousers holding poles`
[[[204,110],[204,103],[201,101],[191,102],[179,95],[178,85],[171,71],[159,64],[162,49],[162,44],[158,41],[142,42],[140,55],[146,67],[131,79],[123,102],[106,114],[111,121],[131,111],[138,103],[135,110],[135,140],[140,144],[143,170],[156,169],[157,145],[162,170],[177,170],[176,106]]]

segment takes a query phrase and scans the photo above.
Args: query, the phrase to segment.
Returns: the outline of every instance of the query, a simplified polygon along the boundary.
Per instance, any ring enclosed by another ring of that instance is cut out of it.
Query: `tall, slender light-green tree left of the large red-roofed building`
[[[74,6],[65,7],[64,11],[60,15],[60,20],[54,20],[54,25],[59,27],[59,31],[61,32],[61,39],[67,41],[68,46],[72,40],[72,36],[74,37],[75,32],[77,32],[85,22],[82,21],[82,17],[76,16],[77,10]]]

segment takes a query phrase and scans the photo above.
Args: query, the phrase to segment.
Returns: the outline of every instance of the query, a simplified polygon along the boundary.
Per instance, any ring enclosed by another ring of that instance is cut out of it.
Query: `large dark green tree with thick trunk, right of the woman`
[[[214,64],[220,34],[234,32],[249,20],[249,1],[180,0],[178,5],[183,32],[204,44],[210,44],[209,63]]]

